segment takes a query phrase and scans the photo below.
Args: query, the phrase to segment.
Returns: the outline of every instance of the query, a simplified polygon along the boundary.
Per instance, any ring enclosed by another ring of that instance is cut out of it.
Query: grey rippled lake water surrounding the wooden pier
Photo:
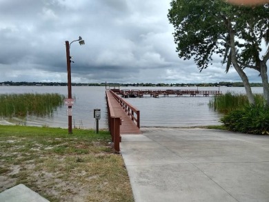
[[[121,89],[140,90],[197,90],[197,87],[126,87]],[[245,94],[244,88],[210,87],[198,90],[221,90]],[[255,93],[262,93],[262,88],[252,88]],[[5,93],[59,93],[67,97],[67,86],[0,86],[0,94]],[[101,109],[99,128],[108,128],[106,108],[106,88],[92,86],[73,86],[72,96],[75,98],[73,110],[73,127],[94,128],[93,110]],[[210,109],[208,103],[212,97],[143,97],[128,98],[126,101],[140,110],[141,127],[183,127],[199,125],[218,125],[221,114]],[[68,128],[67,106],[54,112],[53,117],[27,117],[24,120],[0,119],[0,124],[48,125],[50,127]]]

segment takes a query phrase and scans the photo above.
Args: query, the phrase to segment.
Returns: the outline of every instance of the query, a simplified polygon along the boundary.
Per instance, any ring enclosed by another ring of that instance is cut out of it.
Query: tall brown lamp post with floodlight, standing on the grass
[[[84,40],[79,36],[79,39],[74,40],[79,41],[80,45],[84,45]],[[71,43],[73,43],[72,41]],[[67,64],[67,72],[68,72],[68,99],[72,99],[72,85],[71,85],[71,57],[70,57],[70,46],[71,43],[66,41],[66,64]],[[72,111],[72,105],[68,105],[68,108]],[[68,114],[68,133],[72,134],[72,114]]]

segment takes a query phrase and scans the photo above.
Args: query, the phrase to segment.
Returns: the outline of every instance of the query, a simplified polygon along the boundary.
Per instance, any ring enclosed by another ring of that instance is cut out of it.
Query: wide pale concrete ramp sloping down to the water
[[[122,135],[136,202],[269,201],[269,136],[206,129]]]

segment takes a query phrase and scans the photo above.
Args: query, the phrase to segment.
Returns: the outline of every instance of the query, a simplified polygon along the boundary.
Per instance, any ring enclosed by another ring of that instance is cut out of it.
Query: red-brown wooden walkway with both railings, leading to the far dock
[[[119,152],[121,134],[141,134],[140,112],[112,90],[106,90],[106,99],[109,130],[114,142],[114,150]]]

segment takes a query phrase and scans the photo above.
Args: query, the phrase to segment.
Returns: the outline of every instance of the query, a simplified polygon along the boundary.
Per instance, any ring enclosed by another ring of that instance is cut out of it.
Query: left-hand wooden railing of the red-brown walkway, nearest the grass
[[[111,106],[110,97],[108,96],[108,92],[106,92],[106,103],[108,105],[108,127],[112,137],[112,142],[114,143],[114,151],[119,152],[119,143],[121,142],[121,136],[119,133],[121,118],[115,116],[114,110]]]

